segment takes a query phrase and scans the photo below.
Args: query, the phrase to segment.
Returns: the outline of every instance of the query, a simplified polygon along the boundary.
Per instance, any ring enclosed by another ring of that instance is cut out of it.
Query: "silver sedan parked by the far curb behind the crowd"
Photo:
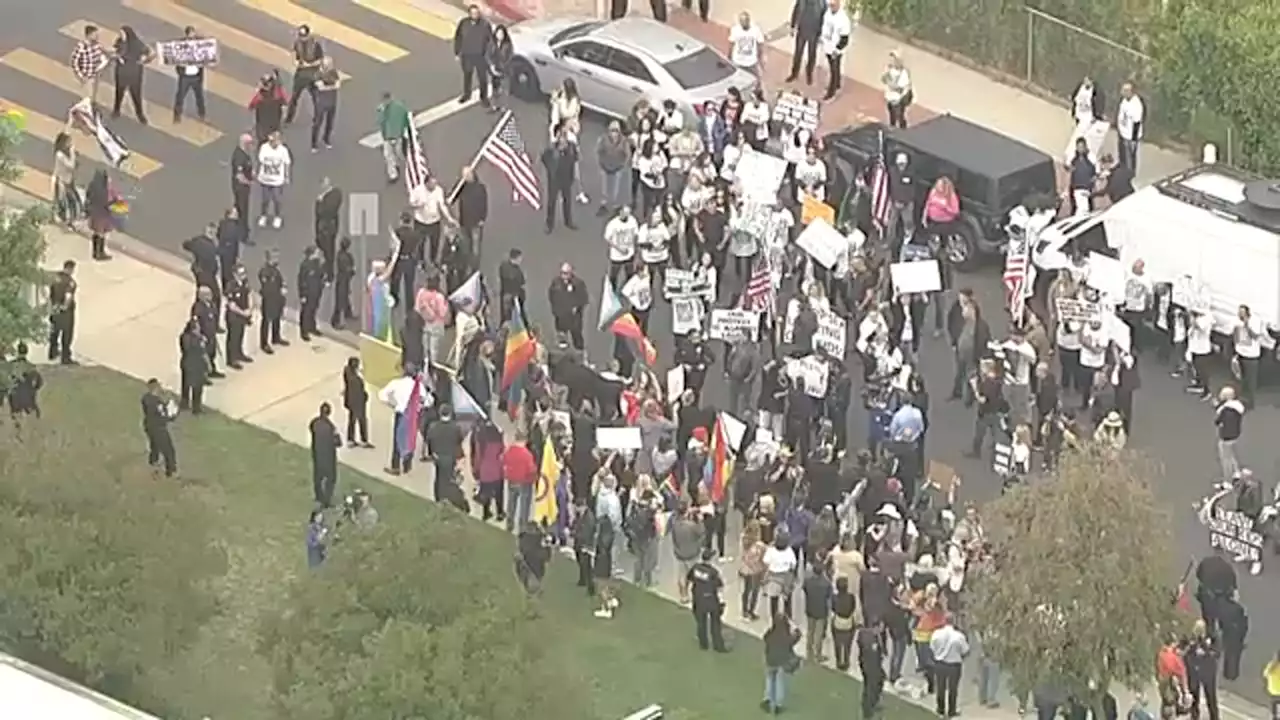
[[[692,117],[731,87],[756,85],[714,49],[650,18],[529,20],[511,27],[511,41],[513,95],[541,100],[571,78],[584,108],[612,118],[627,119],[641,97],[675,100]]]

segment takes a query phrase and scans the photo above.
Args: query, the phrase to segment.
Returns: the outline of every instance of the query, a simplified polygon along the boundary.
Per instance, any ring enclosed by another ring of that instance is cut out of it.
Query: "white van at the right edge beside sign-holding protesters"
[[[1032,260],[1062,269],[1068,243],[1119,258],[1125,268],[1142,260],[1152,282],[1196,297],[1220,334],[1231,333],[1240,305],[1280,328],[1280,186],[1272,186],[1222,165],[1192,168],[1106,210],[1053,223]]]

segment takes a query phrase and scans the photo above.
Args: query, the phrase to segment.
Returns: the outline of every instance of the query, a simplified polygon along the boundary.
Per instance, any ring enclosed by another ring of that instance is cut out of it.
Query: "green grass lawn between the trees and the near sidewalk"
[[[50,370],[41,398],[44,421],[93,428],[97,447],[141,456],[141,392],[140,383],[102,369]],[[306,569],[308,452],[220,415],[180,419],[174,439],[182,482],[218,518],[229,571],[221,583],[219,616],[180,661],[157,669],[148,684],[163,688],[166,705],[177,708],[180,719],[270,720],[271,673],[255,644],[260,618],[282,602],[288,579]],[[384,523],[430,523],[438,512],[449,511],[344,469],[339,492],[357,486],[374,496]],[[495,573],[509,573],[512,550],[506,533],[480,521],[458,537],[461,556],[475,557]],[[630,588],[623,589],[616,619],[598,620],[589,600],[573,585],[575,571],[570,562],[554,564],[541,618],[554,626],[556,655],[586,683],[594,716],[614,720],[654,702],[663,705],[672,720],[760,714],[763,650],[758,639],[735,634],[732,653],[700,652],[687,611]],[[506,573],[495,582],[509,582],[511,592],[521,592]],[[851,678],[805,666],[792,683],[788,716],[856,717],[858,694],[859,685]],[[895,698],[886,698],[886,703],[884,717],[933,717]]]

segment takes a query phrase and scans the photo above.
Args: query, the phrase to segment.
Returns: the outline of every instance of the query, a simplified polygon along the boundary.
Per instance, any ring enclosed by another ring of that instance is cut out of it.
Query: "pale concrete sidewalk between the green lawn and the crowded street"
[[[33,201],[13,192],[5,192],[3,197],[6,202]],[[116,237],[120,252],[110,263],[93,263],[90,259],[88,241],[79,234],[51,227],[46,238],[50,268],[60,266],[68,259],[76,260],[78,265],[77,281],[82,302],[77,316],[77,356],[84,363],[104,365],[142,380],[157,378],[165,387],[177,388],[177,338],[193,299],[184,264],[123,234]],[[307,423],[316,415],[321,402],[340,401],[342,368],[348,357],[356,355],[356,350],[332,337],[319,337],[310,343],[297,342],[296,327],[287,328],[285,334],[294,341],[291,347],[282,348],[271,357],[259,355],[257,361],[244,370],[230,370],[227,379],[218,380],[209,388],[206,402],[230,418],[259,425],[284,441],[307,446]],[[33,354],[42,356],[42,348]],[[392,437],[392,418],[390,411],[376,401],[370,405],[370,439],[379,450],[343,448],[343,464],[429,497],[431,470],[428,464],[419,465],[407,475],[390,477],[383,471],[387,464],[385,448],[389,448]],[[663,547],[659,559],[659,582],[653,592],[675,601],[676,577],[669,547]],[[724,575],[730,584],[726,597],[736,598],[736,565],[727,565]],[[733,601],[726,612],[726,623],[737,632],[754,635],[763,634],[765,629],[763,621],[741,619]],[[605,629],[602,628],[602,632]],[[977,666],[970,662],[960,701],[966,717],[1006,720],[1016,715],[1016,703],[1007,697],[1007,691],[1002,708],[979,707],[975,678]],[[929,698],[902,694],[906,700],[929,705]],[[1121,694],[1120,702],[1126,708],[1132,698]],[[1225,717],[1265,717],[1261,707],[1240,705],[1244,710],[1233,710],[1236,701],[1228,702],[1233,705],[1224,707]]]

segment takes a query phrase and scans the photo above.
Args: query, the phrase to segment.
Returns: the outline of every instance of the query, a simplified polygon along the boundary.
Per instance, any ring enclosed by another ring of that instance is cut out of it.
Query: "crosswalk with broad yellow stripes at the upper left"
[[[362,77],[376,78],[379,65],[408,59],[425,37],[452,41],[457,20],[465,15],[461,6],[445,0],[99,0],[83,4],[79,13],[82,17],[52,32],[26,33],[23,46],[0,53],[0,111],[19,115],[26,135],[19,158],[23,174],[12,184],[44,200],[52,199],[49,172],[59,133],[72,132],[82,160],[106,164],[93,138],[69,131],[67,123],[67,110],[82,94],[68,58],[87,26],[99,28],[108,49],[116,38],[111,28],[127,24],[152,45],[182,37],[186,27],[219,42],[221,61],[205,72],[205,122],[195,117],[174,122],[174,70],[159,63],[147,65],[143,113],[150,124],[128,127],[131,156],[116,170],[141,183],[166,163],[179,165],[193,152],[244,129],[244,108],[257,78],[274,68],[288,72],[293,67],[285,28],[308,26],[326,47],[343,54],[343,78],[360,83]],[[99,90],[99,102],[108,106],[115,92],[110,81],[108,70]],[[187,102],[189,115],[192,100]],[[124,109],[132,110],[132,105],[127,101]],[[90,172],[82,169],[79,182]]]

